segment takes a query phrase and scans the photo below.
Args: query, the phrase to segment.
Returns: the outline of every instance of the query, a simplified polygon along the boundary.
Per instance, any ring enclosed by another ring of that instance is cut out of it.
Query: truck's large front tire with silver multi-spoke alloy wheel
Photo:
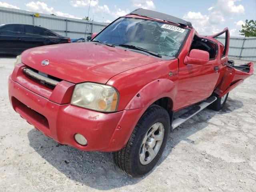
[[[158,162],[166,146],[169,132],[168,112],[160,106],[151,105],[136,124],[126,146],[113,152],[114,162],[132,177],[143,176]]]

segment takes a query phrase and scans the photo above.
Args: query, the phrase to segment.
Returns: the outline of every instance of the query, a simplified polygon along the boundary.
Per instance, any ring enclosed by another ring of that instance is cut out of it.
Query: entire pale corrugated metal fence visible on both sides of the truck
[[[84,36],[87,38],[108,25],[108,23],[92,21],[87,23],[85,20],[47,14],[40,14],[36,17],[34,12],[0,7],[0,24],[7,23],[40,25],[70,38],[84,38]],[[224,37],[218,37],[218,40],[224,43]],[[256,38],[230,37],[228,55],[230,58],[256,61]]]

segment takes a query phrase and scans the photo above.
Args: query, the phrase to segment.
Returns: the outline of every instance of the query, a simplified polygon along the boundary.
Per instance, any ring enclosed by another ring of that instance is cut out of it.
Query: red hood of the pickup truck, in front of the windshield
[[[49,64],[42,66],[43,60],[49,60]],[[72,83],[89,81],[106,84],[117,74],[160,60],[95,42],[41,46],[22,53],[25,65]]]

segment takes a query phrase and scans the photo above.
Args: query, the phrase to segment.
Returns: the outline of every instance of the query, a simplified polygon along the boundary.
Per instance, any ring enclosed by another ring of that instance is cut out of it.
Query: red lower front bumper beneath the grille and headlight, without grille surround
[[[57,104],[14,82],[11,76],[8,86],[14,110],[46,136],[80,150],[115,150],[108,145],[123,111],[107,114],[70,104]],[[88,145],[78,144],[74,140],[76,133],[85,136]]]

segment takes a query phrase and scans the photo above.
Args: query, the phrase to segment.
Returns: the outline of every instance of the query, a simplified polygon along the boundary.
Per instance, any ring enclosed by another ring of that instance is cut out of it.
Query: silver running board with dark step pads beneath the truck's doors
[[[204,108],[206,108],[208,105],[212,104],[214,101],[216,101],[216,97],[212,96],[209,97],[204,102],[200,103],[199,105],[194,105],[192,109],[188,110],[184,114],[180,115],[178,118],[174,119],[172,121],[172,130],[174,130],[176,127],[178,127],[180,124],[184,123],[186,120],[197,114],[198,112],[202,111]]]

